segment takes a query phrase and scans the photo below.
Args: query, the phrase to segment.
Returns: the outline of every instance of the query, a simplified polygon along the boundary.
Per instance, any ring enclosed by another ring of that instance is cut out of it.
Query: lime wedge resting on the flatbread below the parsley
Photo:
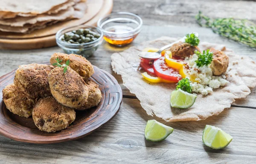
[[[191,93],[187,93],[181,89],[174,90],[171,93],[170,104],[171,107],[176,108],[188,108],[195,103],[196,96]]]

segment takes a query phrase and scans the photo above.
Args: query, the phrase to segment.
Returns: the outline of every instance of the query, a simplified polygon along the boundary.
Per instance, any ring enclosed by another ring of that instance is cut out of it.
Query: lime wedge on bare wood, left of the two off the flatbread
[[[148,120],[145,127],[145,138],[148,141],[163,141],[173,132],[173,128],[156,120]]]

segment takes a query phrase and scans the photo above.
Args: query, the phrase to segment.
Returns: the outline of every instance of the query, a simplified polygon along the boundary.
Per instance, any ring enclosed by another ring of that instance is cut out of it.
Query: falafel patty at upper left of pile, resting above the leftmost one
[[[45,64],[20,65],[15,73],[14,84],[34,99],[51,96],[48,74],[52,68]]]

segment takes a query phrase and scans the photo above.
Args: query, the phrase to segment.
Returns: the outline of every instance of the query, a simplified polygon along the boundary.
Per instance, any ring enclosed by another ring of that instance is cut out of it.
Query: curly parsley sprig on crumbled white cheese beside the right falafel
[[[209,51],[210,50],[203,51],[203,54],[201,54],[199,51],[195,51],[195,54],[198,56],[198,59],[195,61],[195,63],[198,67],[211,64],[213,53]]]

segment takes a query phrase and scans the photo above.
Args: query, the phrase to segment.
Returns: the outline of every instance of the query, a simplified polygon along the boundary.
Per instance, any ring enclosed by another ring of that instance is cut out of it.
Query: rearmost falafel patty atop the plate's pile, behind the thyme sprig
[[[84,80],[88,79],[94,73],[93,65],[85,57],[76,54],[54,53],[50,59],[50,63],[55,63],[57,57],[62,60],[62,62],[60,62],[61,65],[65,64],[69,59],[70,68],[82,76]]]

